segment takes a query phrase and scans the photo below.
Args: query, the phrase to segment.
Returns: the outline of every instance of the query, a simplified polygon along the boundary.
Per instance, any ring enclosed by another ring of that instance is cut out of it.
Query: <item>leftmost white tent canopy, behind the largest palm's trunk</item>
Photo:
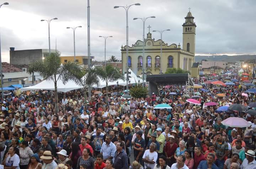
[[[73,81],[67,82],[65,85],[62,83],[61,80],[57,81],[57,91],[58,92],[69,92],[75,89],[83,88],[82,86],[79,86],[75,84]],[[52,90],[54,91],[54,82],[53,81],[47,81],[44,80],[34,86],[29,87],[23,87],[21,88],[21,92],[23,91],[32,91],[32,90]]]

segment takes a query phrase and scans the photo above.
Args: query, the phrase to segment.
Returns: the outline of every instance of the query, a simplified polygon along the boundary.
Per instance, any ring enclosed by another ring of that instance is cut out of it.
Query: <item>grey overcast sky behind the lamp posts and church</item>
[[[41,19],[57,17],[50,23],[51,48],[62,56],[73,56],[73,31],[76,29],[76,56],[87,56],[87,0],[6,0],[0,9],[2,61],[9,62],[9,47],[15,50],[48,49],[48,24]],[[4,1],[1,2],[4,3]],[[143,23],[134,17],[149,17],[151,30],[170,29],[163,40],[182,44],[182,24],[188,8],[196,22],[196,54],[255,54],[255,0],[91,0],[91,55],[104,60],[104,39],[107,39],[107,59],[121,59],[121,45],[126,44],[125,6],[129,9],[129,46],[142,40]],[[148,33],[148,28],[145,29]],[[155,40],[159,33],[153,33]]]

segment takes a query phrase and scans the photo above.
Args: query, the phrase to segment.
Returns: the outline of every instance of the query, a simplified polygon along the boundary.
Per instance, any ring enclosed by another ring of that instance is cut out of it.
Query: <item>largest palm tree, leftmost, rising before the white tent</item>
[[[58,111],[58,93],[57,81],[61,80],[64,84],[69,80],[74,80],[75,74],[81,71],[78,63],[67,62],[62,64],[59,53],[50,53],[50,56],[45,57],[43,60],[33,61],[27,72],[39,72],[45,80],[54,82],[55,89],[55,113]]]

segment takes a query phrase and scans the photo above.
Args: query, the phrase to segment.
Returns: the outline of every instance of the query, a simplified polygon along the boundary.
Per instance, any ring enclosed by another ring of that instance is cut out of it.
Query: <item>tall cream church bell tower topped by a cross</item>
[[[189,8],[189,12],[185,17],[185,23],[183,23],[183,43],[182,49],[190,53],[195,53],[195,43],[196,43],[196,23],[194,22],[194,17],[192,16]]]

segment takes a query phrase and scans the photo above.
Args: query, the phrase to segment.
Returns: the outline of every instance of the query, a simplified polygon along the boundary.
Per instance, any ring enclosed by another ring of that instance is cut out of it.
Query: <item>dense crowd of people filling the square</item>
[[[0,103],[1,167],[256,169],[256,116],[217,111],[224,105],[247,106],[255,95],[242,95],[246,89],[239,82],[219,87],[193,81],[204,90],[161,86],[158,94],[145,98],[111,95],[106,100],[104,94],[92,94],[87,101],[78,90],[60,94],[58,103],[50,91],[7,95]],[[201,105],[187,101],[196,92]],[[205,106],[207,102],[217,105]],[[154,109],[158,104],[171,108]],[[224,126],[228,117],[244,118],[251,126]]]

